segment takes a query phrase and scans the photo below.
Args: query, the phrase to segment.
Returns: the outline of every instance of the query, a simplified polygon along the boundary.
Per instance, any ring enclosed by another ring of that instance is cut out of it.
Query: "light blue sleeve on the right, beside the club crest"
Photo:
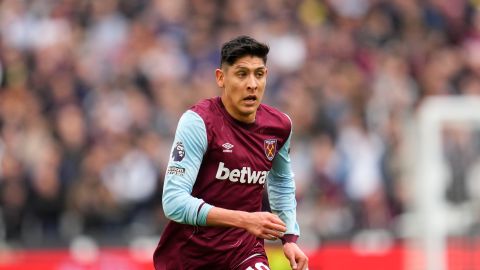
[[[292,133],[273,160],[268,174],[267,191],[272,212],[287,225],[286,234],[300,235],[297,224],[295,181],[290,163],[290,140]]]

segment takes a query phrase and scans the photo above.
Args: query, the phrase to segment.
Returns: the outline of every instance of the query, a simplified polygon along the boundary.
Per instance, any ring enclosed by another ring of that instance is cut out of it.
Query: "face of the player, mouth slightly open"
[[[267,83],[267,68],[262,58],[244,56],[231,66],[217,69],[215,76],[227,112],[239,121],[253,123]]]

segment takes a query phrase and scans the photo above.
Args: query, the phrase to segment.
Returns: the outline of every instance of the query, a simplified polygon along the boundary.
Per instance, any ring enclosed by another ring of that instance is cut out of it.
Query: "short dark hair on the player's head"
[[[258,42],[252,37],[238,36],[222,45],[220,66],[225,63],[231,66],[237,59],[247,55],[260,57],[266,64],[269,50],[267,44]]]

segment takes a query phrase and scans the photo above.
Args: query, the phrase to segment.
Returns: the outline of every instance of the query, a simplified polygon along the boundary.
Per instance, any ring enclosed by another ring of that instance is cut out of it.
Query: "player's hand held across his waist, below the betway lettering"
[[[268,240],[276,240],[286,232],[285,223],[269,212],[248,213],[244,220],[244,229],[249,233]]]

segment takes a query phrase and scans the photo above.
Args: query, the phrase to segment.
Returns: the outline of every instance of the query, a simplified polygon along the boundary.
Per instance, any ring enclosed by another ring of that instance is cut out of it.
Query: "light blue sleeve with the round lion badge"
[[[203,119],[193,111],[180,118],[163,185],[163,211],[167,218],[184,224],[204,226],[212,205],[191,195],[207,150]]]

